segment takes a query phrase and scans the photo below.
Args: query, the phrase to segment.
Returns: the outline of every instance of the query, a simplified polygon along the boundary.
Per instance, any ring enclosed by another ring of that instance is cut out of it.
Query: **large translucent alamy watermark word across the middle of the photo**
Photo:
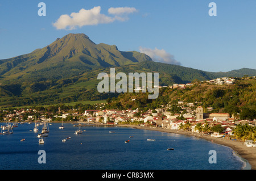
[[[122,78],[122,79],[121,79]],[[115,75],[115,68],[110,69],[110,76],[107,73],[98,74],[97,79],[103,79],[98,83],[98,92],[150,92],[148,99],[156,99],[159,95],[159,73],[154,73],[154,86],[152,86],[152,73],[129,73],[128,86],[127,76],[123,72]],[[115,84],[115,80],[120,80]],[[128,90],[128,91],[127,91]]]

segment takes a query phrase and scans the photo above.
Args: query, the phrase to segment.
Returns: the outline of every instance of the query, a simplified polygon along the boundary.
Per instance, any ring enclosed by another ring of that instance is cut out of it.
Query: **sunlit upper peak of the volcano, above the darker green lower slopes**
[[[119,51],[115,45],[95,44],[82,33],[69,33],[42,49],[0,60],[0,76],[6,80],[31,77],[60,79],[85,71],[142,61],[152,60],[136,51]]]

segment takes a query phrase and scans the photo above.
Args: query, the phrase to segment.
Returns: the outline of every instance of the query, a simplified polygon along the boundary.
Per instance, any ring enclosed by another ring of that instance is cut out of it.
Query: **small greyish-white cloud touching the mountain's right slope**
[[[141,53],[147,54],[152,58],[155,62],[162,62],[166,64],[174,64],[174,65],[181,65],[179,61],[176,61],[174,56],[164,49],[150,49],[150,48],[143,48],[139,47]]]

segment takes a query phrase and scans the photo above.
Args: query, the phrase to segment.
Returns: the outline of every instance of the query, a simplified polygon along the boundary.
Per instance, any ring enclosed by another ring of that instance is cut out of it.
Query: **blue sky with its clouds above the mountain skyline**
[[[0,60],[68,33],[156,62],[214,72],[256,69],[255,0],[0,1]]]

